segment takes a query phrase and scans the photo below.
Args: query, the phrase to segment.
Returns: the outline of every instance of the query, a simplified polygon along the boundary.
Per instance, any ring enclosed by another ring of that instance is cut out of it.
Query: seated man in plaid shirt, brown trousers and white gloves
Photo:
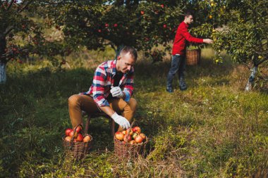
[[[137,102],[131,98],[133,65],[137,58],[137,51],[133,47],[125,46],[116,60],[106,61],[97,67],[89,91],[74,94],[68,99],[73,127],[83,123],[82,110],[87,113],[106,113],[118,123],[118,130],[130,127],[130,120],[137,107]]]

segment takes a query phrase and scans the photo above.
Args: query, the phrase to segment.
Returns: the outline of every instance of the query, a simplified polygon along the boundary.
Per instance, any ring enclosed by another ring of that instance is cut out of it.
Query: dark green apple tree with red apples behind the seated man
[[[61,27],[66,44],[73,49],[110,45],[118,53],[128,45],[159,56],[160,51],[153,52],[152,47],[170,47],[183,7],[174,6],[173,1],[65,1],[44,11]]]

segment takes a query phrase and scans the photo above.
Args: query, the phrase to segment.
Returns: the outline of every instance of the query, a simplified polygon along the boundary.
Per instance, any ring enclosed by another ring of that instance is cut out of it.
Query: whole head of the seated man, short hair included
[[[117,56],[116,70],[126,73],[130,71],[130,68],[135,64],[138,58],[137,51],[130,46],[125,46]]]

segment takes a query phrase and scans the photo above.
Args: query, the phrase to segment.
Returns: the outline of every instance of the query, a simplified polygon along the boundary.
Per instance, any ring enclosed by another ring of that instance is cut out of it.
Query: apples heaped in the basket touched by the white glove
[[[129,128],[122,132],[116,132],[114,136],[118,141],[122,141],[123,144],[141,144],[146,141],[146,135],[141,133],[140,127],[133,127],[132,129]]]

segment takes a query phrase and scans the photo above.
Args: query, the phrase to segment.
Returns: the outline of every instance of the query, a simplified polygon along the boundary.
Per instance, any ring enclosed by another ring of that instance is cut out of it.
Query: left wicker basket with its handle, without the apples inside
[[[75,127],[75,130],[78,126]],[[71,141],[66,141],[65,137],[62,137],[63,141],[63,148],[64,152],[68,156],[72,156],[75,158],[75,160],[81,160],[85,158],[85,155],[90,151],[90,148],[92,148],[92,136],[90,134],[85,134],[84,136],[90,136],[90,141],[83,142],[83,141],[74,141],[72,138]]]

